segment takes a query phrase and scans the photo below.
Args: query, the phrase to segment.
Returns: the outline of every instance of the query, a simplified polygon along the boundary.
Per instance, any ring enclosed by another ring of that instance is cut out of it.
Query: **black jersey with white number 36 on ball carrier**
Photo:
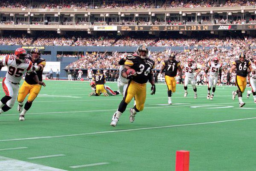
[[[126,66],[130,66],[136,71],[136,76],[132,79],[136,83],[144,84],[148,82],[148,74],[154,68],[154,61],[146,57],[142,59],[137,54],[128,55],[125,61]]]

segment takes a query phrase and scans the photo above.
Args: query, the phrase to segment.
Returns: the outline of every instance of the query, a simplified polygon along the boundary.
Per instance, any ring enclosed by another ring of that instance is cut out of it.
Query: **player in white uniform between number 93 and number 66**
[[[213,58],[212,62],[208,63],[208,66],[205,70],[205,73],[207,74],[208,71],[210,70],[210,74],[208,77],[208,94],[207,94],[207,99],[212,100],[215,92],[216,85],[218,83],[218,76],[221,80],[221,69],[222,69],[222,64],[219,63],[219,60],[217,57]],[[212,88],[212,95],[211,93],[211,88]]]

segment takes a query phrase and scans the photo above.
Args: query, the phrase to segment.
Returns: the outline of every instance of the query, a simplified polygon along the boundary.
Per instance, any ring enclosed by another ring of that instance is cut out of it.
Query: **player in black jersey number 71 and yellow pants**
[[[163,61],[163,66],[160,70],[160,74],[163,73],[163,70],[165,71],[165,81],[168,88],[167,94],[168,94],[168,104],[172,104],[172,93],[175,93],[176,91],[176,80],[175,77],[177,75],[177,71],[179,71],[179,77],[181,77],[182,69],[180,67],[180,61],[175,60],[175,54],[171,54],[169,56],[169,60]]]

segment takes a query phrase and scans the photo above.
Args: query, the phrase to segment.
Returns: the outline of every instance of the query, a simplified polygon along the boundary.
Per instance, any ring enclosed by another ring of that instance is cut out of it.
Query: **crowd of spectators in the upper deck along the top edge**
[[[147,8],[198,8],[212,6],[255,6],[255,0],[125,0],[125,1],[84,1],[84,0],[56,0],[30,1],[30,0],[6,0],[0,2],[0,8],[41,8],[41,9],[147,9]]]

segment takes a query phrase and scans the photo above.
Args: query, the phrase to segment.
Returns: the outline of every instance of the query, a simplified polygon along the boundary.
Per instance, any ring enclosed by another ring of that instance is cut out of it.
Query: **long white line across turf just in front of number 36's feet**
[[[59,138],[59,137],[75,137],[75,136],[95,135],[95,134],[108,134],[108,133],[116,133],[116,132],[140,131],[140,130],[158,129],[158,128],[173,128],[173,127],[192,126],[192,125],[205,125],[205,124],[212,124],[212,123],[225,123],[225,122],[233,122],[233,121],[239,121],[239,120],[253,120],[253,119],[256,119],[256,117],[242,118],[242,119],[236,119],[236,120],[221,120],[221,121],[207,122],[207,123],[190,123],[190,124],[182,124],[182,125],[168,125],[168,126],[157,126],[157,127],[148,127],[148,128],[124,129],[124,130],[116,130],[116,131],[100,131],[100,132],[58,135],[58,136],[49,136],[49,137],[15,138],[15,139],[8,139],[8,140],[0,140],[0,142],[20,141],[20,140],[39,140],[39,139],[45,139],[45,138]]]

